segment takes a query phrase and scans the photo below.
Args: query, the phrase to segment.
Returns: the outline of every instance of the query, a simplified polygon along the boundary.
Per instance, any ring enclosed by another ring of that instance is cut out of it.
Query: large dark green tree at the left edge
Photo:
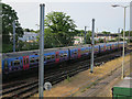
[[[12,9],[12,7],[6,3],[2,3],[2,43],[3,44],[12,43],[12,34],[13,34],[12,22],[13,21],[15,21],[16,38],[23,35],[23,30],[20,26],[20,23],[18,20],[19,18],[16,16],[16,12]]]

